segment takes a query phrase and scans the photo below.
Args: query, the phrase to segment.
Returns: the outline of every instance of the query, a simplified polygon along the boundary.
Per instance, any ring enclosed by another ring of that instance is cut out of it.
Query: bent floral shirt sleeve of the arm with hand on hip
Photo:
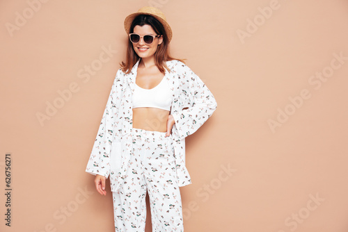
[[[216,110],[216,100],[207,85],[187,65],[180,65],[178,75],[181,80],[183,96],[181,99],[188,106],[175,111],[172,115],[180,138],[193,134]]]

